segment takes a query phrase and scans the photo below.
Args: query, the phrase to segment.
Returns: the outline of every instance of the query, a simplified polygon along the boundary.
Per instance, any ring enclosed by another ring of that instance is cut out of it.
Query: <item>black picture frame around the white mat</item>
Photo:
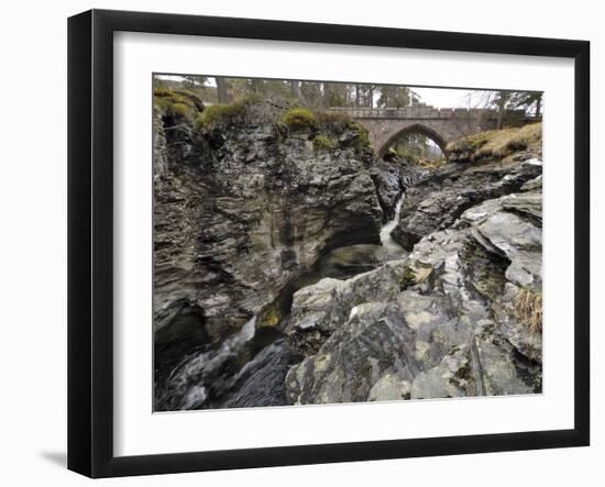
[[[574,428],[144,456],[113,453],[113,33],[188,34],[574,59]],[[68,20],[68,468],[166,474],[590,443],[590,43],[372,26],[91,10]]]

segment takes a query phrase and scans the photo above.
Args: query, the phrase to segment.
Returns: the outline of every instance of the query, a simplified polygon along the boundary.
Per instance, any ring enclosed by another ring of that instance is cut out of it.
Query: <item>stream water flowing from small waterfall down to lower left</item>
[[[391,236],[403,203],[404,193],[396,203],[395,217],[381,229],[382,247],[337,248],[314,269],[289,283],[276,299],[282,316],[287,317],[294,292],[304,286],[323,277],[349,278],[385,261],[403,257],[405,251]],[[256,328],[256,317],[221,343],[191,343],[187,352],[176,348],[175,355],[170,362],[177,365],[164,370],[163,379],[155,384],[156,411],[286,405],[285,375],[301,359],[290,354],[285,336],[277,329]]]

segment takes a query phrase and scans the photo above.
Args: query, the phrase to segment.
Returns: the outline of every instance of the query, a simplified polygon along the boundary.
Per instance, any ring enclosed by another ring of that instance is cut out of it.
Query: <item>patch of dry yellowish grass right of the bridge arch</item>
[[[528,148],[539,148],[542,143],[542,124],[532,123],[521,128],[491,130],[460,139],[448,144],[450,154],[464,154],[472,161],[488,157],[503,159]]]

